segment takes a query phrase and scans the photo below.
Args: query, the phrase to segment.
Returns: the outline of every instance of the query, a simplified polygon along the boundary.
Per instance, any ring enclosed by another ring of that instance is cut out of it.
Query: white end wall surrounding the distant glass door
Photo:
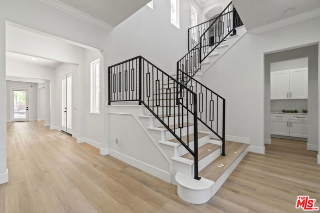
[[[6,81],[6,122],[11,122],[13,117],[13,92],[12,89],[28,90],[28,119],[37,120],[37,83]]]

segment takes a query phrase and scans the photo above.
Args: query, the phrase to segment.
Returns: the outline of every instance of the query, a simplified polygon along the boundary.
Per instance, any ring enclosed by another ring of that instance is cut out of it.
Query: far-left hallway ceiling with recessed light
[[[31,58],[34,58],[36,60],[32,60]],[[45,66],[49,68],[56,68],[61,64],[61,62],[57,62],[54,60],[28,56],[28,55],[18,54],[14,52],[6,52],[6,60],[18,61],[22,63],[37,65],[37,66]]]

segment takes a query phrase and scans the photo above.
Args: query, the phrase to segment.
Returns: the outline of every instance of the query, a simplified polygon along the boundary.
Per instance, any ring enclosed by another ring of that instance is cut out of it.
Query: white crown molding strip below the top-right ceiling
[[[288,17],[282,20],[278,20],[275,21],[273,23],[269,23],[269,24],[265,24],[263,26],[259,26],[253,29],[248,30],[248,33],[252,34],[252,35],[256,35],[262,32],[266,32],[275,28],[279,28],[279,27],[283,27],[292,23],[297,23],[300,21],[304,21],[310,18],[314,18],[320,16],[320,8],[317,9],[313,9],[311,11],[308,12],[304,12],[298,15],[294,15],[292,17]]]

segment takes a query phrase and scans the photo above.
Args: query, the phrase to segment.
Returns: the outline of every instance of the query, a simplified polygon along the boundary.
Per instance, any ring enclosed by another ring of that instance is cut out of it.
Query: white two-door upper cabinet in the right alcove
[[[270,73],[270,97],[277,99],[308,98],[308,68]]]

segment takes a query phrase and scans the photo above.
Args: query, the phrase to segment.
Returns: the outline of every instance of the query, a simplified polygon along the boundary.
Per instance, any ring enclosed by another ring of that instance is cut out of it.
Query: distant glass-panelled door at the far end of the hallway
[[[12,89],[12,122],[28,121],[28,90]]]

